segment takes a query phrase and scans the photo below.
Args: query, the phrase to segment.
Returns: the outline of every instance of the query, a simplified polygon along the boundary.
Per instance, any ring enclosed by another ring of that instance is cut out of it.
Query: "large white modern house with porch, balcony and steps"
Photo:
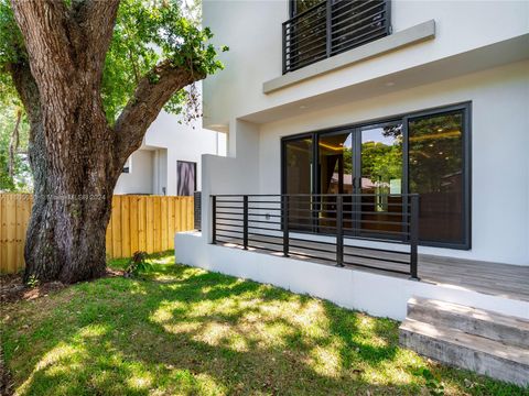
[[[475,309],[529,319],[529,2],[205,0],[203,14],[230,48],[204,82],[228,156],[203,157],[202,232],[176,235],[177,260],[399,320],[409,301],[402,342],[527,383],[529,324],[505,341],[515,321]],[[482,343],[487,316],[507,330]]]

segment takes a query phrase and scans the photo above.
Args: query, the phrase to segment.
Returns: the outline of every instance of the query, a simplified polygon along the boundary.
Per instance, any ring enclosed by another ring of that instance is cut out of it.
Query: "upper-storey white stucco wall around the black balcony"
[[[216,44],[230,48],[220,56],[226,69],[204,82],[207,128],[529,33],[528,1],[395,0],[393,32],[433,19],[435,38],[264,95],[262,84],[281,75],[281,23],[289,19],[288,3],[204,1],[204,25],[212,28]]]

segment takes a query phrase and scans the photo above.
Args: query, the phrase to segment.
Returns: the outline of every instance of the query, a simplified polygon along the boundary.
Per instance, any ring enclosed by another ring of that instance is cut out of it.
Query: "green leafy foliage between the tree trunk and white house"
[[[213,74],[223,68],[216,61],[216,48],[206,44],[213,37],[210,30],[199,29],[199,2],[166,0],[150,7],[151,3],[122,0],[119,7],[102,80],[102,99],[110,123],[132,96],[140,78],[161,59],[171,59],[177,66],[192,59],[188,66],[197,73]],[[155,82],[156,76],[151,78]],[[202,116],[194,86],[176,92],[164,109],[182,114],[187,122]]]

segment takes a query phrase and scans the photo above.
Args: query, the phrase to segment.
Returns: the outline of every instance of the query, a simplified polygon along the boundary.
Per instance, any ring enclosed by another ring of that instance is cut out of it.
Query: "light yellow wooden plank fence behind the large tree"
[[[31,206],[29,194],[0,194],[0,273],[24,267]],[[193,230],[193,197],[114,196],[107,256],[129,257],[136,251],[173,249],[175,232]]]

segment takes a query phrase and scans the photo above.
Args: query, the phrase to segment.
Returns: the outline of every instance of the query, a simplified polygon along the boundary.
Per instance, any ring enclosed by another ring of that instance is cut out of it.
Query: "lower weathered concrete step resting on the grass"
[[[529,350],[406,319],[399,328],[401,345],[451,366],[529,386]]]

